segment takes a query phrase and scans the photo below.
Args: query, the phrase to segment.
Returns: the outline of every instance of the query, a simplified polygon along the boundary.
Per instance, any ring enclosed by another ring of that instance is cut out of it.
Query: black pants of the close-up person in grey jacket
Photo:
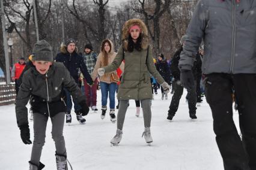
[[[256,169],[256,74],[206,76],[206,100],[224,168]],[[242,141],[233,121],[232,88],[239,111]]]

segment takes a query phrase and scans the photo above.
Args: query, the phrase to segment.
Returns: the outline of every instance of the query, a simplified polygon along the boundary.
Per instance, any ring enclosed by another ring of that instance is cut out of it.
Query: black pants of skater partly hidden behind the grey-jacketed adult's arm
[[[171,104],[169,106],[168,114],[174,116],[176,111],[178,110],[178,104],[180,104],[180,98],[183,94],[183,86],[181,86],[180,81],[175,80],[173,82],[175,84],[174,94],[171,99]],[[195,114],[197,107],[197,96],[195,93],[195,87],[193,90],[188,91],[188,103],[189,103],[189,114]]]

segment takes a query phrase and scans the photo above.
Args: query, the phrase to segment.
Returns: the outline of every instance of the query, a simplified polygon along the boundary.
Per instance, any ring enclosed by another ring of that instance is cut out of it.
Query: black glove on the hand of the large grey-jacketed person
[[[191,70],[181,70],[180,82],[187,90],[192,90],[195,86],[194,76]]]

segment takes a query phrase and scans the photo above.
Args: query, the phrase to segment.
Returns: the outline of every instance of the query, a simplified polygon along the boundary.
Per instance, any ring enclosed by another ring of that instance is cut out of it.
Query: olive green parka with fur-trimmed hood
[[[139,25],[141,28],[141,47],[142,50],[134,49],[127,51],[129,28],[132,25]],[[159,84],[164,82],[163,78],[157,72],[153,62],[152,49],[148,45],[147,27],[139,19],[130,19],[123,26],[123,43],[118,49],[114,61],[105,66],[105,72],[116,70],[124,60],[124,72],[118,89],[117,98],[120,100],[142,100],[152,99],[150,73],[156,78]]]

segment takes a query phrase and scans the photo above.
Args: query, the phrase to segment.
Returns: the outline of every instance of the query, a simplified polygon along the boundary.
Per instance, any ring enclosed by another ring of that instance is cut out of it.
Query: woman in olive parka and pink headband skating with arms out
[[[151,73],[156,81],[168,93],[169,85],[166,83],[154,66],[152,49],[148,44],[148,31],[140,19],[130,19],[123,26],[123,43],[118,49],[117,56],[111,65],[98,69],[100,76],[105,72],[117,69],[124,60],[124,72],[118,89],[117,98],[120,100],[117,115],[117,134],[111,144],[118,144],[123,134],[123,123],[129,99],[140,100],[144,116],[144,135],[147,143],[153,142],[150,133],[151,123]]]

